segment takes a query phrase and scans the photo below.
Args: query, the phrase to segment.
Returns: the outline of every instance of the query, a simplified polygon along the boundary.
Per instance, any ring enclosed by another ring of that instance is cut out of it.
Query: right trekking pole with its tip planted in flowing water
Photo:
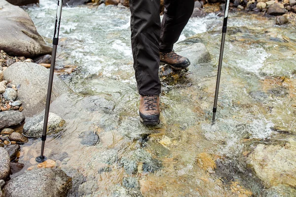
[[[216,116],[216,112],[217,112],[217,102],[218,102],[218,94],[219,94],[223,50],[224,50],[224,43],[225,43],[225,34],[226,34],[226,29],[227,29],[228,7],[229,7],[229,0],[226,0],[223,27],[222,27],[222,40],[221,40],[221,47],[220,47],[220,57],[219,57],[218,74],[217,74],[217,82],[216,82],[215,100],[214,100],[214,107],[213,107],[213,119],[212,119],[213,122],[215,121],[215,116]]]

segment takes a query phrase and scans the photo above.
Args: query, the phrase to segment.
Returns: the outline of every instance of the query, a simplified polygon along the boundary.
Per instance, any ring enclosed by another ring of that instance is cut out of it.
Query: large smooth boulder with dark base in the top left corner
[[[33,21],[20,7],[0,0],[0,49],[10,56],[34,58],[51,54]]]

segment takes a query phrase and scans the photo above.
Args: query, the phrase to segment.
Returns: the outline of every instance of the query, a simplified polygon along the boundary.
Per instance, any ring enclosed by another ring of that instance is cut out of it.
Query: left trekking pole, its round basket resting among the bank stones
[[[36,161],[39,163],[44,162],[47,159],[43,155],[43,153],[44,153],[44,145],[45,145],[45,140],[46,140],[46,130],[47,130],[47,123],[48,123],[48,115],[49,115],[55,59],[56,59],[56,53],[57,53],[57,46],[58,46],[58,42],[59,42],[59,31],[60,31],[62,6],[63,6],[63,0],[58,0],[56,22],[55,22],[54,35],[53,35],[53,40],[52,40],[53,46],[52,46],[51,65],[50,65],[50,72],[49,72],[48,89],[47,89],[45,114],[44,114],[44,122],[43,122],[43,132],[42,132],[42,136],[41,136],[41,140],[42,140],[41,153],[40,153],[40,156],[36,158]]]

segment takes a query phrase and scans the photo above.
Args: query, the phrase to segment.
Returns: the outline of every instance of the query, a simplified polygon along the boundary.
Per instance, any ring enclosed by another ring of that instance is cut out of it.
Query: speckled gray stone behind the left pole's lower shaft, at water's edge
[[[27,121],[23,128],[24,135],[28,137],[41,137],[43,131],[43,120],[44,114],[41,113],[31,120]],[[47,124],[47,133],[57,133],[63,130],[65,120],[54,113],[49,113],[48,124]]]

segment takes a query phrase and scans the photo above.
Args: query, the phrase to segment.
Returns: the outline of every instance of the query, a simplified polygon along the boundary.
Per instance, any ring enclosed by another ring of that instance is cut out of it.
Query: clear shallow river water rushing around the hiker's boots
[[[55,1],[25,10],[50,44]],[[244,153],[280,131],[296,133],[295,23],[281,27],[275,17],[230,14],[211,124],[222,18],[190,19],[175,49],[192,64],[161,77],[161,123],[145,127],[138,117],[129,18],[123,7],[63,8],[56,66],[77,66],[61,75],[74,94],[51,105],[67,125],[49,136],[45,155],[73,176],[70,196],[264,196],[268,187]],[[81,145],[83,131],[96,132],[100,142]],[[30,140],[20,162],[34,164],[39,148],[39,140]]]

